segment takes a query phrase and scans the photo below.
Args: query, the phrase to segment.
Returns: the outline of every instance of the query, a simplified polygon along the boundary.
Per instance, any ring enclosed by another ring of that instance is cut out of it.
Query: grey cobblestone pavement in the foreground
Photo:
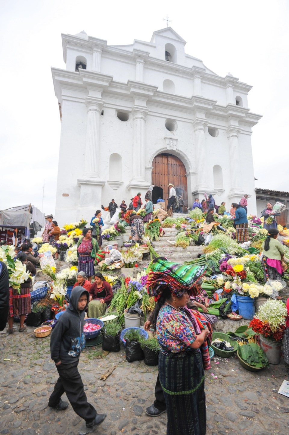
[[[50,337],[35,338],[32,327],[20,334],[18,328],[14,324],[13,335],[0,333],[0,434],[77,435],[83,422],[70,405],[65,411],[47,407],[57,379]],[[112,375],[100,380],[112,365]],[[96,435],[166,434],[166,414],[145,414],[154,400],[157,367],[128,363],[123,346],[108,353],[100,345],[83,351],[79,370],[88,400],[107,414]],[[206,371],[207,434],[288,435],[289,398],[277,392],[284,379],[283,359],[259,373],[246,371],[236,357],[213,360]]]

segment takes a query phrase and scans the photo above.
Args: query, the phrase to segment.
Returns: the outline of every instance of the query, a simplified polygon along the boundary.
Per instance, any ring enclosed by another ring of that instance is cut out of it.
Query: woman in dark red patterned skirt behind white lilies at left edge
[[[27,255],[24,252],[20,252],[17,255],[18,260],[21,263],[26,265],[26,271],[32,274],[36,274],[36,268],[33,264],[28,261]],[[32,286],[32,280],[28,275],[26,281],[20,284],[20,293],[18,293],[17,289],[13,287],[10,288],[10,301],[9,301],[9,313],[8,313],[8,334],[13,334],[13,318],[14,316],[20,317],[20,328],[19,332],[23,332],[26,329],[24,325],[25,316],[31,311],[31,302],[30,302],[30,288]]]

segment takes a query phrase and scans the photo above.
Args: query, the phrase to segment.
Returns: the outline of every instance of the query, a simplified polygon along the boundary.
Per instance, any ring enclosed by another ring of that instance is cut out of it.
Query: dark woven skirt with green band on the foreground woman
[[[206,396],[199,351],[169,358],[159,353],[159,380],[168,415],[166,435],[205,435]]]

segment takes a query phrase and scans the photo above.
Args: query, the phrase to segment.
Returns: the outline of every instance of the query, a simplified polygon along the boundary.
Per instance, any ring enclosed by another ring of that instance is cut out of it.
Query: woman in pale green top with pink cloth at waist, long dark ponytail
[[[265,281],[268,281],[268,279],[282,279],[283,268],[281,258],[282,255],[285,255],[286,251],[283,245],[276,240],[278,234],[279,231],[276,228],[269,228],[266,240],[262,243],[262,266]]]

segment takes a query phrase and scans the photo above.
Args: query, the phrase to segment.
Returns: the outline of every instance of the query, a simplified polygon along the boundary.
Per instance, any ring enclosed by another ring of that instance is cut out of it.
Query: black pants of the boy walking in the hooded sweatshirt
[[[83,382],[77,370],[77,364],[78,362],[56,365],[59,378],[49,398],[48,406],[58,405],[61,396],[65,392],[73,411],[86,422],[91,422],[96,417],[97,412],[93,406],[87,402]]]

